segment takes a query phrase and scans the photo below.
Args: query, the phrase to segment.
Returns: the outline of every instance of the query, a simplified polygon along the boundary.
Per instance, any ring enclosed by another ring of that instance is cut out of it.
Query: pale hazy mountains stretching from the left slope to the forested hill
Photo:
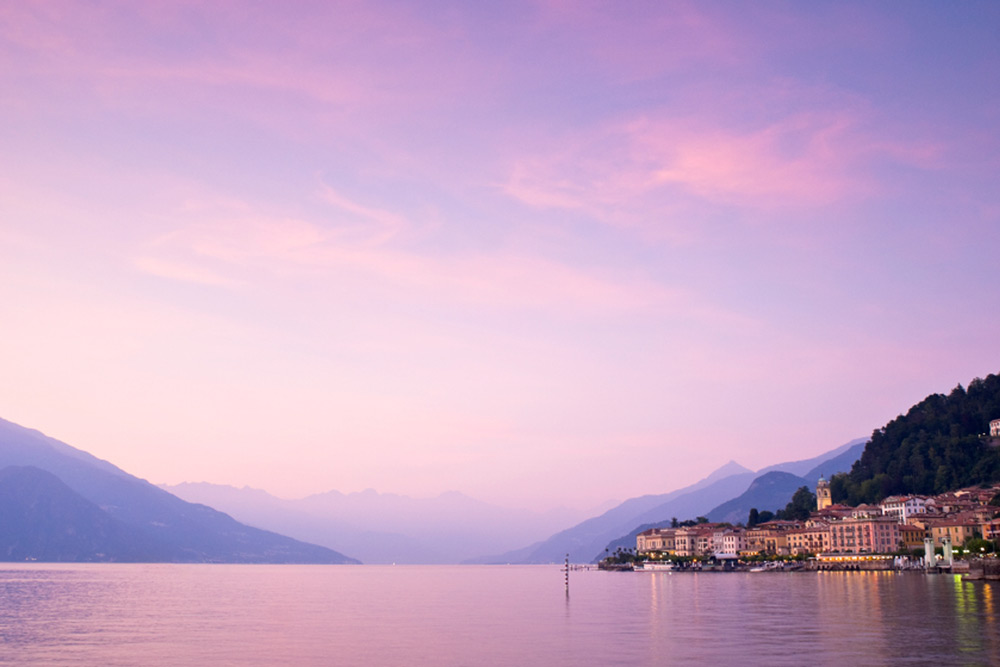
[[[285,500],[259,489],[208,483],[163,488],[250,525],[322,544],[365,563],[550,563],[562,561],[567,553],[579,562],[603,555],[616,539],[628,538],[634,545],[634,529],[641,525],[708,515],[727,501],[733,504],[720,511],[742,513],[734,522],[746,520],[749,507],[744,512],[742,506],[748,498],[763,503],[761,509],[784,507],[799,486],[815,485],[820,474],[850,469],[864,442],[853,440],[820,456],[759,472],[730,461],[688,487],[630,498],[589,518],[572,518],[566,510],[540,514],[505,509],[456,492],[415,499],[372,490],[331,491]],[[766,500],[742,495],[758,477],[775,472],[793,478],[794,487],[787,489],[786,484]],[[809,477],[816,479],[808,482]]]

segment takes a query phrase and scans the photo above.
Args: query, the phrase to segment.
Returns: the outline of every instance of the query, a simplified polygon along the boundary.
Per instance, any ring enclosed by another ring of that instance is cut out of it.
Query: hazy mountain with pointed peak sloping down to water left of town
[[[750,483],[753,473],[747,468],[730,461],[708,477],[683,489],[660,495],[647,495],[630,498],[600,516],[587,519],[571,528],[560,531],[546,540],[528,547],[509,551],[497,556],[479,559],[477,562],[492,563],[556,563],[562,561],[566,554],[575,562],[587,562],[595,554],[603,555],[604,547],[609,541],[629,531],[641,522],[641,517],[649,516],[651,512],[671,511],[670,503],[676,501],[678,507],[688,508],[693,505],[688,502],[689,494],[697,494],[705,502],[705,507],[712,507],[723,499],[731,497],[733,485],[741,490],[740,480]],[[739,493],[739,490],[735,491]],[[699,493],[701,492],[701,493]],[[668,515],[670,516],[670,515]]]

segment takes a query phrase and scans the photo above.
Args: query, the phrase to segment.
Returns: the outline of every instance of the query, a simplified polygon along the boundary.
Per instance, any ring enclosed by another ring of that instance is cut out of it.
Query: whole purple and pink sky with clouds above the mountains
[[[1000,372],[997,3],[291,5],[0,5],[0,416],[586,507]]]

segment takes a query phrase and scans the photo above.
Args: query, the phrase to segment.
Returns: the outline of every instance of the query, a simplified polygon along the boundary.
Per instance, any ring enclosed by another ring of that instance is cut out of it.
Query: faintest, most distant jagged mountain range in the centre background
[[[457,492],[411,498],[372,489],[286,500],[208,483],[162,487],[239,521],[350,553],[366,563],[459,563],[551,535],[580,512],[498,507]]]

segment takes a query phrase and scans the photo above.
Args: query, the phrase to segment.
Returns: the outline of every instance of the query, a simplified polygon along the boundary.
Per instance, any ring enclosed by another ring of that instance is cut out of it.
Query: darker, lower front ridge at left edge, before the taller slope
[[[0,560],[154,561],[169,549],[117,521],[50,472],[0,470]]]

